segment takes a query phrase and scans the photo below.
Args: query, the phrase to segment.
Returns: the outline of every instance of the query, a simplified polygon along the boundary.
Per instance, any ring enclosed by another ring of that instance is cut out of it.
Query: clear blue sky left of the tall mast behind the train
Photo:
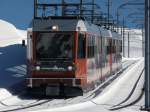
[[[0,0],[0,19],[26,29],[33,16],[33,0]]]

